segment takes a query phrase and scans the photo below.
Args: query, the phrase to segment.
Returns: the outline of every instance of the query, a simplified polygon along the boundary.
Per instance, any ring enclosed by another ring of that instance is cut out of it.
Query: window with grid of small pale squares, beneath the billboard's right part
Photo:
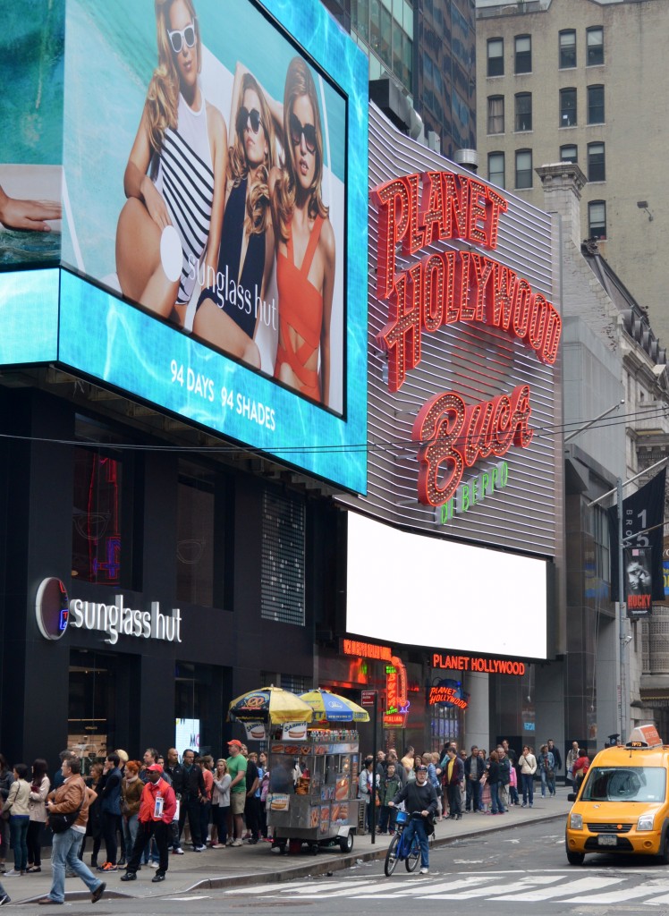
[[[304,503],[263,496],[260,616],[304,626]]]

